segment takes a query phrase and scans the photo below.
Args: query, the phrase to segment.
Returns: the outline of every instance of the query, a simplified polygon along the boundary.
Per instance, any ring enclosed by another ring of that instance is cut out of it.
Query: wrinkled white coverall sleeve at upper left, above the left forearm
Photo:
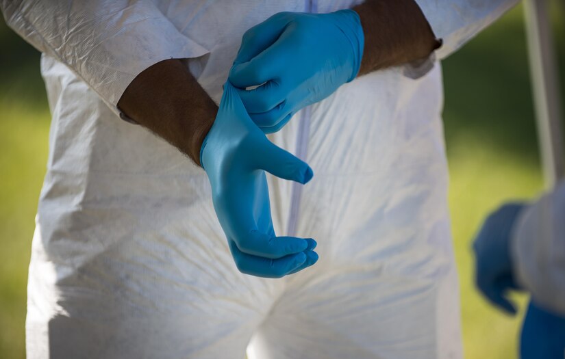
[[[0,0],[6,23],[68,66],[116,113],[127,85],[164,59],[208,53],[151,1]]]

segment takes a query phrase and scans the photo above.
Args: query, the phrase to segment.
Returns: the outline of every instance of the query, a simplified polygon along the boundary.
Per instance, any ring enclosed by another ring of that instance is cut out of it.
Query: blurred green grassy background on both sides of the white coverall
[[[565,73],[565,14],[552,1]],[[445,60],[445,135],[466,358],[516,358],[520,315],[490,307],[473,287],[470,242],[501,202],[542,189],[522,8]],[[49,109],[39,53],[0,21],[0,358],[24,358],[27,265],[45,174]],[[564,83],[564,77],[561,83]],[[423,323],[425,325],[425,323]]]

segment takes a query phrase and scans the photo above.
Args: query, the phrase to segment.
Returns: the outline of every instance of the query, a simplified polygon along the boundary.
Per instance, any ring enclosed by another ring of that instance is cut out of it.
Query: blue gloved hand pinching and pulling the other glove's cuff
[[[353,10],[279,12],[244,34],[229,81],[251,119],[273,133],[299,109],[355,79],[363,46],[360,18]],[[261,86],[245,90],[256,85]]]

